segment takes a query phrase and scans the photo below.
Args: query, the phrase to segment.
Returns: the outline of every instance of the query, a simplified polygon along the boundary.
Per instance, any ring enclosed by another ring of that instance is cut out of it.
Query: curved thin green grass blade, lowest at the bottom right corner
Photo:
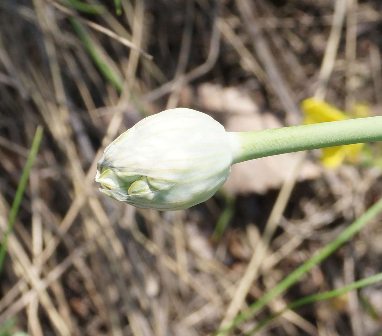
[[[274,314],[270,315],[264,321],[261,321],[256,326],[256,328],[251,330],[248,334],[244,334],[243,336],[249,336],[249,335],[255,333],[256,331],[259,331],[262,327],[267,325],[270,321],[274,320],[276,317],[280,316],[286,310],[296,309],[296,308],[301,307],[303,305],[310,304],[312,302],[319,301],[319,300],[332,299],[333,297],[345,294],[346,292],[349,292],[349,291],[353,291],[354,289],[358,289],[358,288],[361,288],[361,287],[365,287],[365,286],[371,285],[374,282],[378,282],[378,281],[382,281],[382,273],[378,273],[378,274],[373,275],[373,276],[371,276],[369,278],[365,278],[365,279],[353,282],[352,284],[350,284],[348,286],[345,286],[345,287],[342,287],[342,288],[338,288],[338,289],[334,289],[333,291],[324,292],[324,293],[318,293],[318,294],[310,295],[310,296],[304,297],[302,299],[299,299],[299,300],[289,304],[287,307],[285,307],[280,312],[277,312],[277,313],[274,313]]]

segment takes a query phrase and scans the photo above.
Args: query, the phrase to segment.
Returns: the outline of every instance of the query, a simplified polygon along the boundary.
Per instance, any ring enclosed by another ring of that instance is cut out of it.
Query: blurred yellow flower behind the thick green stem
[[[301,107],[305,114],[304,124],[348,119],[348,116],[342,111],[314,98],[305,99],[301,103]],[[366,117],[370,115],[369,108],[365,105],[356,104],[354,114]],[[321,162],[329,168],[337,168],[345,159],[350,162],[357,162],[358,154],[363,146],[363,143],[356,143],[322,148]]]

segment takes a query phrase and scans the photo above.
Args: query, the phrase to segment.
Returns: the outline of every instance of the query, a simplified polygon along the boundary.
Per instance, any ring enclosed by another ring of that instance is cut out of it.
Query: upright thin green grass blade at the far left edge
[[[24,166],[23,174],[21,174],[21,179],[16,190],[15,198],[13,199],[11,211],[8,218],[8,227],[6,229],[6,232],[4,233],[3,241],[0,247],[0,274],[3,269],[3,262],[4,262],[5,252],[6,252],[6,242],[8,240],[8,235],[12,232],[13,225],[15,224],[16,215],[19,211],[21,199],[23,198],[23,194],[24,194],[24,189],[25,189],[26,183],[28,182],[29,171],[32,168],[34,158],[36,157],[37,152],[39,151],[41,138],[42,138],[42,126],[38,126],[36,133],[34,135],[31,151],[29,153],[28,159],[26,160],[26,163]]]

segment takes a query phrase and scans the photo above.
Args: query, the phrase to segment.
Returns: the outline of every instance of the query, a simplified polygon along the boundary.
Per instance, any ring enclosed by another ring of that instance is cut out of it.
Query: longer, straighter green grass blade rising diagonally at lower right
[[[329,244],[322,248],[318,253],[312,256],[303,265],[297,268],[293,273],[287,276],[277,286],[267,292],[261,299],[252,304],[246,312],[238,315],[233,321],[232,325],[226,329],[219,330],[214,333],[218,335],[223,332],[227,332],[235,328],[239,323],[246,320],[248,317],[258,312],[261,308],[268,304],[268,302],[274,299],[277,295],[286,291],[291,285],[298,281],[301,276],[308,273],[308,271],[314,266],[324,260],[327,256],[332,254],[338,247],[353,237],[359,230],[361,230],[369,221],[371,221],[377,214],[382,211],[382,198],[380,198],[374,205],[372,205],[365,213],[350,224],[338,237],[333,239]]]

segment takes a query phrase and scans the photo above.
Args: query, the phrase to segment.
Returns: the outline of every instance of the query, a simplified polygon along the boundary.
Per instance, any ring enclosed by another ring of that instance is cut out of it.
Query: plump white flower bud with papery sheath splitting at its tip
[[[144,118],[110,143],[95,180],[118,201],[180,210],[214,195],[231,162],[224,127],[207,114],[178,108]]]

